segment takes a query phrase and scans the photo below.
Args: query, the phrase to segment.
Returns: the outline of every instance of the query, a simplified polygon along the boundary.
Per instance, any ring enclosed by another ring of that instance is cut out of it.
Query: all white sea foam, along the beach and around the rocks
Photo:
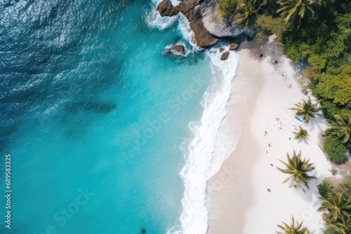
[[[192,52],[200,50],[194,43],[194,33],[190,29],[189,22],[183,15],[173,18],[161,18],[158,12],[151,15],[152,17],[147,19],[149,25],[159,29],[169,27],[179,20],[180,32],[183,34],[183,39],[192,46]],[[181,226],[174,226],[168,230],[168,234],[206,233],[208,228],[207,181],[218,172],[220,165],[230,156],[239,139],[239,137],[230,138],[225,119],[226,105],[232,89],[232,79],[237,71],[238,57],[236,53],[231,52],[227,60],[222,61],[221,55],[218,48],[206,51],[206,56],[212,62],[212,82],[201,101],[201,105],[204,106],[201,121],[189,124],[193,137],[180,146],[185,156],[185,166],[180,172],[185,186],[182,199],[183,212],[180,215]]]

